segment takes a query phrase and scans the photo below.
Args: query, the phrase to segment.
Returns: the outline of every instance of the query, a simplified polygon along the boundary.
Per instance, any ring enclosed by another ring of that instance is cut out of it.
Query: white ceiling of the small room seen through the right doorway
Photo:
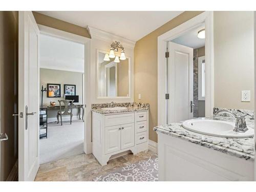
[[[204,47],[205,39],[200,39],[197,37],[198,31],[200,31],[201,29],[204,29],[204,23],[199,27],[177,37],[176,39],[172,40],[172,42],[176,42],[177,44],[187,46],[193,49]]]

